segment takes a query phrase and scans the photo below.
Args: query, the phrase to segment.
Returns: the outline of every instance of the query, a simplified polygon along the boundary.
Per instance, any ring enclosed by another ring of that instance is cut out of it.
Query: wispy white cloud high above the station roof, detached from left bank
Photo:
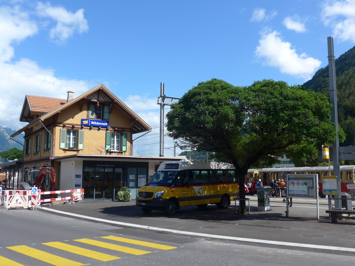
[[[83,33],[89,29],[83,9],[72,13],[61,6],[53,7],[49,3],[38,2],[37,12],[38,15],[53,18],[57,22],[57,25],[50,30],[49,37],[60,43],[71,37],[76,31]]]

